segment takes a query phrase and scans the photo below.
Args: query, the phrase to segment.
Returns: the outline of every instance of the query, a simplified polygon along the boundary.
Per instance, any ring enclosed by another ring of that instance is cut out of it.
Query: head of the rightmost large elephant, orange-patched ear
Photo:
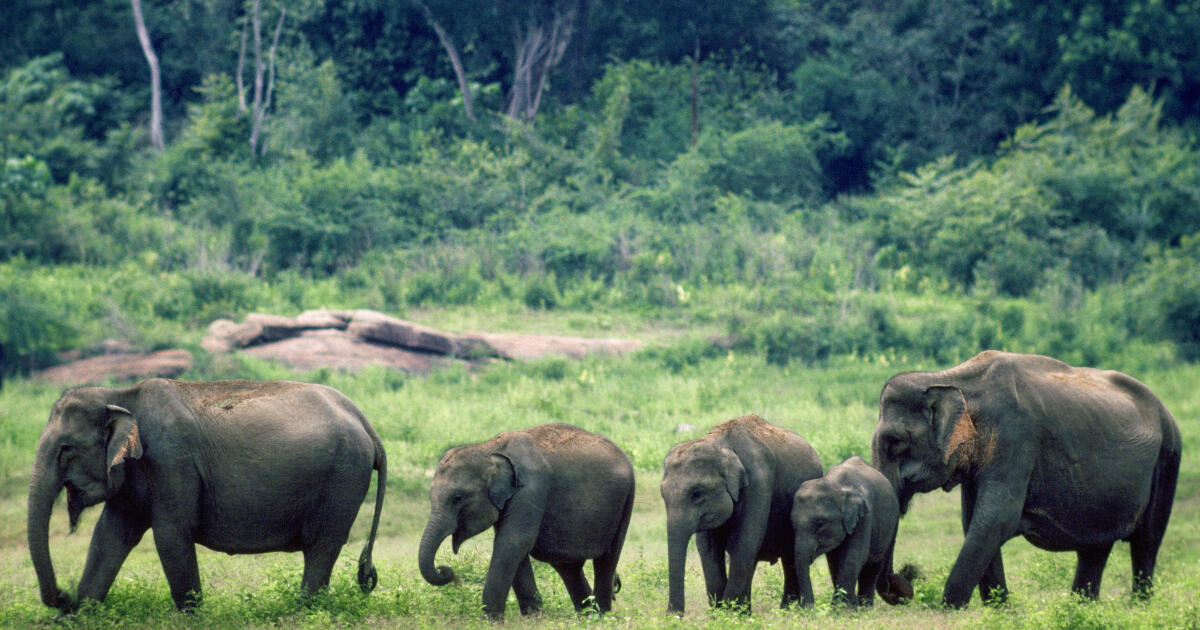
[[[928,373],[893,377],[880,395],[871,461],[892,482],[900,512],[918,492],[949,491],[991,457],[986,439],[958,386]]]

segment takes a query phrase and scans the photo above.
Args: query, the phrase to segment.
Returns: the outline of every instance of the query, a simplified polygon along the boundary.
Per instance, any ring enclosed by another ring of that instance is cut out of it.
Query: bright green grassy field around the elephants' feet
[[[469,328],[470,322],[460,324]],[[581,325],[594,328],[594,322]],[[426,584],[416,570],[416,542],[428,514],[427,490],[438,455],[450,444],[550,421],[571,422],[610,436],[637,468],[634,522],[620,563],[624,589],[604,618],[574,613],[557,575],[535,564],[545,612],[521,618],[510,600],[509,623],[517,628],[1198,628],[1200,626],[1200,366],[1181,365],[1134,373],[1166,403],[1180,422],[1184,457],[1175,511],[1159,554],[1157,590],[1146,604],[1129,598],[1128,546],[1117,545],[1100,601],[1080,602],[1068,593],[1074,554],[1049,553],[1024,540],[1004,546],[1012,596],[1006,606],[973,600],[965,611],[940,607],[942,584],[961,544],[958,492],[914,499],[901,521],[898,564],[920,566],[916,601],[847,612],[830,607],[823,563],[812,568],[818,605],[779,611],[779,565],[760,565],[754,616],[709,611],[700,563],[688,565],[688,612],[665,613],[667,600],[665,514],[659,497],[667,449],[702,434],[728,418],[756,413],[805,436],[832,466],[850,455],[869,457],[876,400],[883,382],[901,370],[932,368],[902,358],[838,359],[821,367],[768,366],[761,356],[664,356],[640,354],[581,362],[544,360],[496,364],[476,371],[448,370],[406,377],[384,370],[356,376],[331,372],[293,374],[240,360],[214,360],[185,378],[248,377],[322,380],[346,392],[372,420],[388,449],[388,497],[376,546],[379,587],[364,596],[354,583],[372,505],[364,504],[331,588],[302,602],[299,554],[226,556],[200,550],[204,605],[176,613],[150,536],[134,548],[108,600],[68,618],[41,605],[25,546],[25,493],[37,437],[56,388],[10,382],[0,392],[0,626],[64,628],[485,628],[480,589],[491,548],[488,534],[463,545],[457,557],[444,545],[438,562],[460,581]],[[1120,365],[1104,367],[1121,368]],[[373,492],[368,493],[373,497]],[[61,499],[60,499],[61,500]],[[67,533],[59,508],[50,524],[50,551],[61,584],[78,578],[97,509],[79,530]],[[977,596],[978,598],[978,596]]]

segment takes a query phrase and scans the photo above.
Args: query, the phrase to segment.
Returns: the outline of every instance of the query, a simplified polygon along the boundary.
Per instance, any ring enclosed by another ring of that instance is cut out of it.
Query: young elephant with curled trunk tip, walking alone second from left
[[[438,461],[430,484],[430,520],[421,534],[421,576],[433,586],[454,580],[433,560],[451,536],[454,552],[492,527],[492,558],[484,580],[484,612],[504,618],[508,593],[522,614],[541,610],[529,558],[558,571],[576,611],[594,595],[612,610],[617,560],[634,510],[634,467],[608,438],[563,424],[499,433],[455,446]],[[592,560],[595,590],[583,575]]]

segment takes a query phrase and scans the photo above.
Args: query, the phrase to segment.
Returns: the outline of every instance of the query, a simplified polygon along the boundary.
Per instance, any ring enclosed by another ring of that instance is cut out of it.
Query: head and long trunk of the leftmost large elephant
[[[29,551],[47,606],[70,607],[59,590],[50,562],[50,511],[67,491],[67,515],[73,532],[84,508],[113,497],[125,482],[126,460],[142,457],[138,424],[114,390],[82,388],[67,391],[50,410],[42,431],[29,482]],[[118,401],[119,402],[119,401]]]

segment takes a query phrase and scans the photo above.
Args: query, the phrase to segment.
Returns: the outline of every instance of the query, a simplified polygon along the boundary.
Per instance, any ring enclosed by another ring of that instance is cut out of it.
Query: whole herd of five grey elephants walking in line
[[[784,568],[782,605],[811,605],[809,566],[824,554],[850,606],[913,596],[893,571],[896,523],[914,493],[961,487],[965,541],[943,601],[1007,593],[1001,546],[1016,535],[1078,556],[1072,588],[1096,598],[1114,542],[1129,542],[1133,592],[1148,596],[1180,468],[1178,427],[1139,380],[1048,356],[989,350],[937,372],[892,377],[880,395],[871,462],[829,470],[800,436],[746,415],[666,455],[670,595],[684,611],[692,535],[713,605],[749,610],[760,560]],[[338,391],[293,382],[144,380],[66,391],[37,446],[29,550],[42,601],[73,611],[103,600],[148,529],[180,610],[199,604],[196,544],[228,553],[300,551],[301,588],[328,586],[378,472],[374,518],[359,558],[364,592],[383,509],[379,436]],[[61,590],[48,528],[66,490],[74,529],[103,503],[74,594]],[[421,575],[454,578],[434,556],[494,529],[482,605],[502,619],[509,590],[541,606],[530,558],[562,576],[577,610],[607,611],[634,505],[634,469],[610,439],[542,425],[451,448],[430,487]],[[593,563],[593,583],[583,575]]]

